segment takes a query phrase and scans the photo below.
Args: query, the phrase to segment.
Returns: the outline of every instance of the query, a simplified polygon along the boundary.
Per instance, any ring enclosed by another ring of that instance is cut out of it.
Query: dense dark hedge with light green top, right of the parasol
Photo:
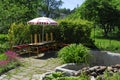
[[[95,46],[90,38],[91,26],[92,23],[86,20],[61,20],[59,21],[62,38],[60,41],[65,43],[82,43],[87,47],[93,48]]]

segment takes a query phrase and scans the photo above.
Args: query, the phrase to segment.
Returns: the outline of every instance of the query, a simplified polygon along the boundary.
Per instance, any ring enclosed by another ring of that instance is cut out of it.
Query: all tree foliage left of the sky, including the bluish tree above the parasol
[[[12,23],[27,23],[38,17],[57,17],[62,0],[1,0],[0,33],[7,33]]]

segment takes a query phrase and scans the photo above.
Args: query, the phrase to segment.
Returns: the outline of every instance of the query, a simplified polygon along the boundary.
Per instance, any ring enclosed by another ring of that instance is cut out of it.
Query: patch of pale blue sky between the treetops
[[[71,10],[73,10],[75,7],[77,7],[78,5],[81,5],[85,0],[62,0],[63,1],[63,5],[61,8],[69,8]]]

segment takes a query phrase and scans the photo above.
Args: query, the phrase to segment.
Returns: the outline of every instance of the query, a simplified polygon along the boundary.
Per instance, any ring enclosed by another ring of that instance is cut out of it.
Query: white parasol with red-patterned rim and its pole
[[[42,41],[44,41],[44,26],[45,25],[58,25],[58,23],[56,21],[54,21],[51,18],[47,18],[47,17],[38,17],[38,18],[34,18],[30,21],[28,21],[28,24],[32,24],[32,25],[43,25],[43,30],[42,30]]]

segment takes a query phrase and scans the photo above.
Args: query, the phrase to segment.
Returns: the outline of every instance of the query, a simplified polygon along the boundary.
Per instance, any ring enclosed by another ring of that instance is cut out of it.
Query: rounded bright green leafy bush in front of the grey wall
[[[62,48],[58,52],[58,57],[64,63],[88,63],[90,54],[89,49],[82,44],[71,44]]]

